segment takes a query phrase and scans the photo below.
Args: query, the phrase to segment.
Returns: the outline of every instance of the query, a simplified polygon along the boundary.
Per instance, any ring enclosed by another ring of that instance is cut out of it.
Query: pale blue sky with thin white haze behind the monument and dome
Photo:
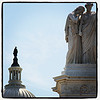
[[[18,49],[22,84],[36,97],[59,97],[53,77],[64,70],[68,44],[65,22],[85,3],[3,4],[3,86],[8,84],[13,50]],[[96,11],[96,4],[92,8]]]

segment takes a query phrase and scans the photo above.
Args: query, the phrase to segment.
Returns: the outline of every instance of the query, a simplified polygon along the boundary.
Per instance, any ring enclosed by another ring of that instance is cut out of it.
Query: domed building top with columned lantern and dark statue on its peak
[[[9,70],[9,81],[7,85],[5,85],[5,89],[3,90],[3,97],[35,97],[31,92],[26,90],[25,85],[22,85],[21,81],[21,71],[22,68],[18,64],[17,59],[17,47],[14,49],[14,59],[13,64],[11,65]]]

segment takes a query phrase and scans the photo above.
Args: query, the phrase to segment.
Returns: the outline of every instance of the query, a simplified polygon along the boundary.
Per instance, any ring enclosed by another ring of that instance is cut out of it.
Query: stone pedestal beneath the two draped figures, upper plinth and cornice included
[[[69,64],[61,76],[54,77],[53,91],[60,97],[96,97],[96,65]]]

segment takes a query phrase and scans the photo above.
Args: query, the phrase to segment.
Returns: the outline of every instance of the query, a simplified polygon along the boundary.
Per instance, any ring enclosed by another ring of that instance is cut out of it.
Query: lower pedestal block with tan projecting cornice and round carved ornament
[[[91,78],[68,77],[54,78],[56,87],[52,88],[60,97],[96,97],[96,80]]]

